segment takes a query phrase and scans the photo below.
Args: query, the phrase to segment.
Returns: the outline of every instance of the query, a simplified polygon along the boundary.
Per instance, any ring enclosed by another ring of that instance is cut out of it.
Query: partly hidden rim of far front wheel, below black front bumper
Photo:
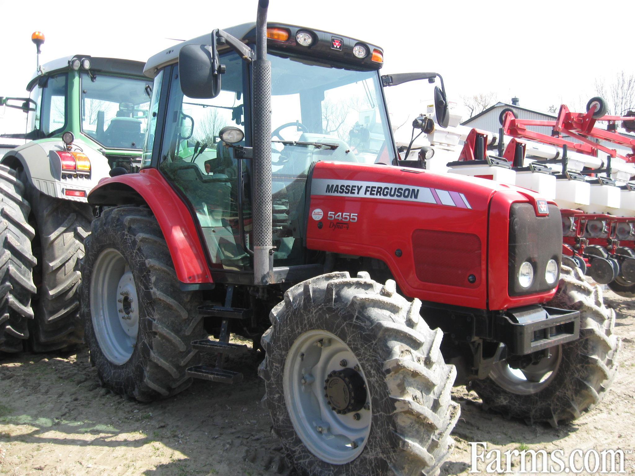
[[[525,369],[512,369],[505,360],[493,365],[490,378],[507,392],[531,395],[546,388],[555,378],[562,360],[562,346],[551,348],[549,357]]]

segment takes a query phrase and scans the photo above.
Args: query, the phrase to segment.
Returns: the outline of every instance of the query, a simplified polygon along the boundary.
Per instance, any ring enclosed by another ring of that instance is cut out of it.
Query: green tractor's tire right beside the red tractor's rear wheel
[[[51,352],[83,342],[79,319],[79,262],[90,234],[92,207],[87,203],[36,194],[33,213],[39,236],[39,275],[35,318],[30,321],[29,346]]]

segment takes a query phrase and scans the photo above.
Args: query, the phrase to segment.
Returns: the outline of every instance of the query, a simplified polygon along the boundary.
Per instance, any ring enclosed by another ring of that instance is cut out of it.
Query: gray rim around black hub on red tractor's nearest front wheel
[[[367,408],[337,414],[324,399],[324,380],[333,370],[356,367],[366,382]],[[293,342],[284,362],[286,407],[300,440],[322,461],[344,465],[357,458],[370,435],[370,390],[359,360],[344,341],[322,329],[307,331]]]

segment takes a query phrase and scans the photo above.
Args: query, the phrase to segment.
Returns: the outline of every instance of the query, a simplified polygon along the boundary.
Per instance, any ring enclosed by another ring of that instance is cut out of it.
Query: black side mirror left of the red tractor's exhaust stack
[[[178,78],[184,95],[211,99],[220,93],[220,67],[215,46],[186,44],[178,53]]]

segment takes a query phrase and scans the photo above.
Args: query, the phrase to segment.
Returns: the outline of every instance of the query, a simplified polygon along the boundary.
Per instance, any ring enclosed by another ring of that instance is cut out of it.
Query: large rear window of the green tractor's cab
[[[150,98],[144,79],[81,74],[81,129],[105,147],[142,149]]]

